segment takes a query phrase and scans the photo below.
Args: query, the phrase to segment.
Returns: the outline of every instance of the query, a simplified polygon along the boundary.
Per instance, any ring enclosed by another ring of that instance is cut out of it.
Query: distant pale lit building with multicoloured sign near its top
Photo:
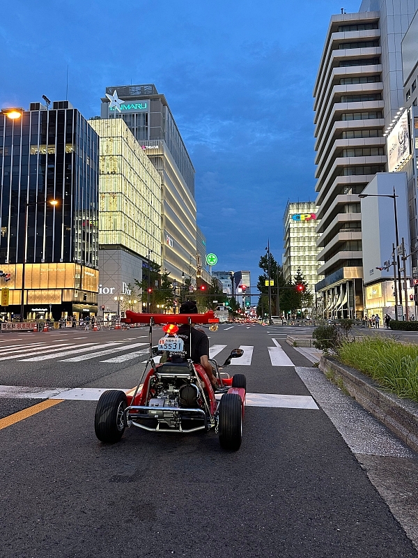
[[[318,207],[314,202],[288,202],[284,211],[284,257],[283,277],[286,282],[294,282],[297,270],[300,269],[309,291],[315,293],[315,285],[323,276],[318,276],[317,241],[319,234],[316,227]]]

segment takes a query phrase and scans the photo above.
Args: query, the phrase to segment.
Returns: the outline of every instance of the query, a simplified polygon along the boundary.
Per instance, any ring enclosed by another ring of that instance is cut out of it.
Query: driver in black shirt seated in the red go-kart
[[[180,314],[197,314],[197,304],[195,301],[186,301],[180,306]],[[185,342],[185,354],[179,355],[171,353],[169,360],[176,362],[178,359],[192,359],[194,364],[200,364],[205,370],[213,389],[217,389],[217,379],[213,374],[212,365],[209,362],[209,339],[208,335],[201,329],[196,329],[192,324],[192,355],[190,356],[190,325],[183,324],[178,328],[177,335]]]

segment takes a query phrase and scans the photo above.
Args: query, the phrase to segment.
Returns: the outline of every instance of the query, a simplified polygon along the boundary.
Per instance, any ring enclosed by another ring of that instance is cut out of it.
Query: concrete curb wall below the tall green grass
[[[320,357],[319,369],[341,384],[351,397],[378,421],[392,430],[398,438],[418,452],[418,404],[398,398],[394,393],[383,391],[373,379],[349,366],[325,356]]]

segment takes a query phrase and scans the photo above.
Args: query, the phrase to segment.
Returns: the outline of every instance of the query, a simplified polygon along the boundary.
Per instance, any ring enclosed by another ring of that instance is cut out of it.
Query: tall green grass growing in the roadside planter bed
[[[370,337],[343,342],[339,359],[370,376],[383,389],[418,402],[418,345]]]

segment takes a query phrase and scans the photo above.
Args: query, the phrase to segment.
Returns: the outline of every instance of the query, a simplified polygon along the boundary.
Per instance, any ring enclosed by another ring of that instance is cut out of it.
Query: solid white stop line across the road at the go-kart
[[[26,386],[0,386],[0,399],[64,399],[98,401],[109,388],[40,388]],[[119,388],[116,388],[119,389]],[[132,388],[120,388],[125,393]],[[309,395],[278,395],[275,393],[247,393],[245,405],[249,407],[276,407],[286,409],[318,409]]]

